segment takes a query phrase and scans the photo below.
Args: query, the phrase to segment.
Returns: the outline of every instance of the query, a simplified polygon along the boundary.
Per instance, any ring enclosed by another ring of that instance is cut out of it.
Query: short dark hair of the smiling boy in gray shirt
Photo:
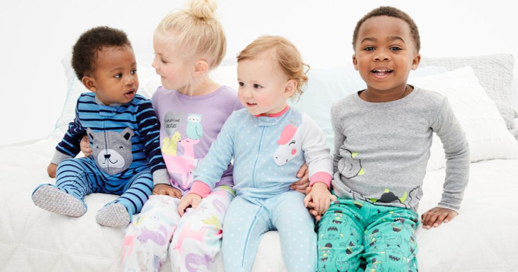
[[[359,21],[356,23],[356,27],[354,28],[353,33],[353,49],[356,50],[356,40],[358,40],[358,31],[359,27],[362,26],[362,24],[369,18],[372,17],[378,17],[378,16],[390,16],[394,18],[399,18],[405,22],[407,22],[408,26],[410,26],[410,35],[412,36],[412,40],[414,42],[415,50],[419,53],[419,50],[421,50],[421,39],[419,38],[419,30],[418,26],[415,24],[414,20],[405,13],[404,11],[401,11],[394,7],[379,7],[371,10],[369,13],[367,13],[362,19],[359,19]]]

